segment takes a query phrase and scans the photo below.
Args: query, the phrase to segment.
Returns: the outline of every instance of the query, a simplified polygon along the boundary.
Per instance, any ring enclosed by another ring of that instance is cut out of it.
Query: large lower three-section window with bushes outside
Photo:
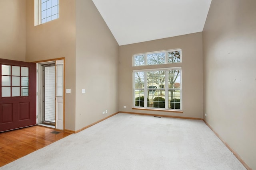
[[[182,74],[180,67],[134,70],[133,80],[134,107],[182,109]]]

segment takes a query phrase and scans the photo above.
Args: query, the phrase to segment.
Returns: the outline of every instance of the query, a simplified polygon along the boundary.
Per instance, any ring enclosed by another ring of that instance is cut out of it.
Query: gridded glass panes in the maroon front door
[[[29,95],[29,68],[1,65],[1,97]]]

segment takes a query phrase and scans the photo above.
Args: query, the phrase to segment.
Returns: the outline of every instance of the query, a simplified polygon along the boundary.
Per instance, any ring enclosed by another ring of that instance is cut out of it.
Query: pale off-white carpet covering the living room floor
[[[0,170],[246,170],[199,120],[119,113]]]

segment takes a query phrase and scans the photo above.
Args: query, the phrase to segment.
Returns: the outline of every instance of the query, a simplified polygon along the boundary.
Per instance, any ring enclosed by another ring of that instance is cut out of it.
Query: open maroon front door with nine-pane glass
[[[36,125],[36,64],[0,59],[0,132]]]

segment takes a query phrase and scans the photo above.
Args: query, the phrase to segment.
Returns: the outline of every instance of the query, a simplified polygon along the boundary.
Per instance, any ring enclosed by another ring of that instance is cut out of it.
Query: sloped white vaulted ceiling
[[[211,0],[92,0],[119,45],[200,32]]]

